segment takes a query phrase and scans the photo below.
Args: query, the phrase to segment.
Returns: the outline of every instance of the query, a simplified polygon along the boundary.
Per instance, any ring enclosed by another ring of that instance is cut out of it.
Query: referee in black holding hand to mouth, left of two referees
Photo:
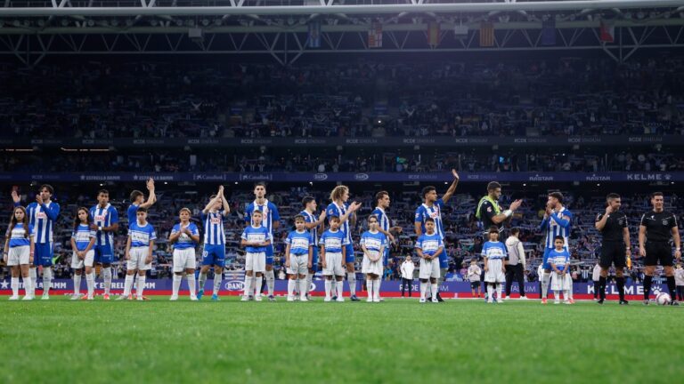
[[[596,229],[601,233],[601,275],[599,277],[599,301],[606,300],[606,279],[608,268],[615,264],[615,283],[620,294],[620,305],[629,304],[624,300],[624,267],[627,258],[631,256],[630,228],[627,225],[627,215],[620,212],[622,204],[620,195],[612,193],[606,197],[606,212],[596,217]]]

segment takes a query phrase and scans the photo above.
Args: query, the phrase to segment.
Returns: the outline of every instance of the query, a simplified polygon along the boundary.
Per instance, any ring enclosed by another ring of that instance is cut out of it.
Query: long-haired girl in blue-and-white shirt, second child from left
[[[80,207],[74,220],[74,230],[71,232],[71,268],[74,270],[74,295],[71,300],[78,300],[81,288],[81,273],[85,267],[85,283],[88,294],[85,300],[93,300],[95,288],[95,275],[93,262],[95,259],[95,237],[97,233],[90,228],[90,214],[88,209]]]

